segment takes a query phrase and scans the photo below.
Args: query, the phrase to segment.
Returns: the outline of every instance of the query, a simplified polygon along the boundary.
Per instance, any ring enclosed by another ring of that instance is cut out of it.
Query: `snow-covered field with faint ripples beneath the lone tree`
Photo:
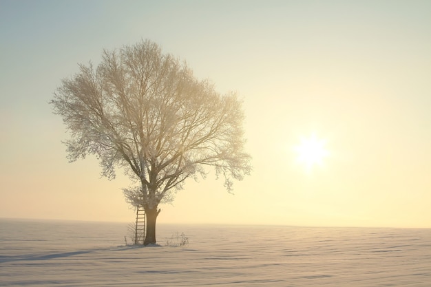
[[[0,220],[0,286],[431,286],[431,229]],[[185,247],[165,246],[173,233]],[[128,239],[129,240],[129,239]]]

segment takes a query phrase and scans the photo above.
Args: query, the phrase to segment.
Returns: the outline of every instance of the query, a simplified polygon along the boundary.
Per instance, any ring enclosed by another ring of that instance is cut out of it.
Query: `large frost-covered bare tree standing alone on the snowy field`
[[[139,183],[125,195],[145,208],[145,244],[156,243],[158,205],[173,200],[187,178],[204,178],[213,167],[231,191],[233,179],[251,172],[242,102],[198,81],[156,43],[104,50],[97,67],[79,67],[50,101],[71,134],[68,158],[94,154],[102,176],[115,178],[120,167]]]

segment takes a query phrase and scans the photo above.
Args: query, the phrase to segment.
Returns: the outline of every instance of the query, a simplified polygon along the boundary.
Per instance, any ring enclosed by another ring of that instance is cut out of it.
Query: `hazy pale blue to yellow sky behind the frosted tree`
[[[430,1],[0,0],[0,217],[133,222],[129,178],[69,163],[48,104],[150,39],[244,100],[251,176],[189,180],[158,223],[431,228]],[[306,168],[297,147],[326,156]]]

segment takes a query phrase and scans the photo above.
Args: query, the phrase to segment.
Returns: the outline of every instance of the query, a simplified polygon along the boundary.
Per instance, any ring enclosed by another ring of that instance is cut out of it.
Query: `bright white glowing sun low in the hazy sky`
[[[307,171],[311,171],[316,165],[322,166],[324,158],[329,155],[325,145],[326,140],[317,138],[315,134],[301,138],[301,143],[295,147],[297,162],[303,164]]]

